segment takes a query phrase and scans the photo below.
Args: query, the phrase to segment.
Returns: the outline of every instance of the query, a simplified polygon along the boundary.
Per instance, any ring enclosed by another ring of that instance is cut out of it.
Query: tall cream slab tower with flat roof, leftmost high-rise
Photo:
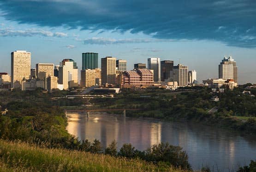
[[[12,88],[21,89],[23,78],[30,78],[31,53],[27,51],[14,51],[11,53]]]

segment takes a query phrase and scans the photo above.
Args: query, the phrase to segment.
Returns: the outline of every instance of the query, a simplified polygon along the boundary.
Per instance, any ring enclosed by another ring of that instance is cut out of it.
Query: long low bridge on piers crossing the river
[[[125,117],[126,111],[138,111],[144,109],[137,109],[137,108],[128,108],[128,109],[86,109],[86,110],[65,110],[65,115],[67,112],[86,112],[87,117],[90,117],[90,112],[92,111],[123,111],[123,116]]]

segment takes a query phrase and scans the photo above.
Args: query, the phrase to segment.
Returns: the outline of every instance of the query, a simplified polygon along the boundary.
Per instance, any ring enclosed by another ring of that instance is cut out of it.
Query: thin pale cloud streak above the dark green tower
[[[149,43],[159,42],[163,40],[159,39],[112,39],[93,37],[83,40],[83,44],[136,44],[136,43]]]

